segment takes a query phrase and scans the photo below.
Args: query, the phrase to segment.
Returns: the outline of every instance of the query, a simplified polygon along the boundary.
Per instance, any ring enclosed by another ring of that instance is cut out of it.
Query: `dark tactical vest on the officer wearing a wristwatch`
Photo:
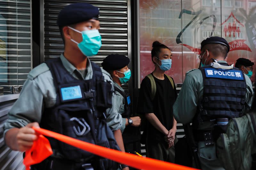
[[[122,90],[118,89],[116,86],[114,86],[115,91],[119,92],[125,101],[125,105],[124,105],[124,110],[125,112],[122,113],[122,117],[123,118],[130,118],[132,117],[132,113],[131,113],[131,99],[130,99],[130,95],[127,92],[123,92]],[[132,143],[132,142],[136,142],[140,140],[140,129],[139,127],[134,127],[131,125],[128,125],[125,127],[124,132],[122,133],[122,137],[123,137],[123,141],[124,144],[128,144],[128,143]]]

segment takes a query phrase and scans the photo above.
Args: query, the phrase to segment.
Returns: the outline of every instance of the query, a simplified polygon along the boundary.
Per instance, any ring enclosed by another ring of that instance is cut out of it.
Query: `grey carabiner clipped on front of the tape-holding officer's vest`
[[[84,118],[78,119],[76,117],[72,117],[70,121],[77,122],[77,126],[72,127],[77,136],[86,135],[91,130],[90,126],[85,122]],[[80,129],[81,126],[79,125],[82,126],[82,130]]]

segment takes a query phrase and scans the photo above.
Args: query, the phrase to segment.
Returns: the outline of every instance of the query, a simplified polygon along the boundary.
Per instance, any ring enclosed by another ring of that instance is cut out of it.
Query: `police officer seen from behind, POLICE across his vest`
[[[198,142],[202,169],[224,169],[216,158],[213,138],[218,121],[228,122],[244,113],[252,104],[252,83],[241,70],[225,61],[228,42],[221,37],[210,37],[201,43],[201,67],[186,73],[186,78],[173,106],[177,122],[192,122]],[[226,124],[225,123],[225,124]]]

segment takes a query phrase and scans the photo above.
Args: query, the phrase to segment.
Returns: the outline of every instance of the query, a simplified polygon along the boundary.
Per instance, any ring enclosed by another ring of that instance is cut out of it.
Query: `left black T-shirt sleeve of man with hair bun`
[[[140,95],[138,100],[137,113],[154,113],[153,101],[151,99],[151,84],[148,77],[145,77],[140,85]]]

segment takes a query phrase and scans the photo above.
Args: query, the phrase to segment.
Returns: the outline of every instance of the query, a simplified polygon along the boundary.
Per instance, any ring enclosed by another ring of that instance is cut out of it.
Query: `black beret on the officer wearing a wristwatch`
[[[101,63],[104,70],[119,70],[130,63],[130,59],[120,54],[110,54]]]

